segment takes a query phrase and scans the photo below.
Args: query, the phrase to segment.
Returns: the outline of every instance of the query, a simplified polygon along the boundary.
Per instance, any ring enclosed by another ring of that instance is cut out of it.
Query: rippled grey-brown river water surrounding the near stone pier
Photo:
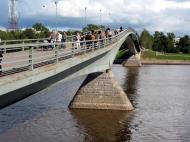
[[[189,142],[190,66],[113,66],[135,110],[70,110],[80,77],[0,110],[0,142]]]

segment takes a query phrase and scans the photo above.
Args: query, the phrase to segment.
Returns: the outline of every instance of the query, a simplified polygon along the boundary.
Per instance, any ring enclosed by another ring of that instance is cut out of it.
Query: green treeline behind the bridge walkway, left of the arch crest
[[[97,30],[97,29],[105,29],[104,26],[98,26],[94,24],[89,24],[82,29],[83,32]],[[68,30],[66,34],[76,35],[79,31],[76,30]],[[47,38],[50,36],[51,31],[41,23],[36,23],[32,26],[32,28],[25,30],[17,30],[17,31],[1,31],[0,30],[0,39],[1,40],[16,40],[16,39],[36,39],[36,38]],[[63,31],[60,31],[63,34]]]

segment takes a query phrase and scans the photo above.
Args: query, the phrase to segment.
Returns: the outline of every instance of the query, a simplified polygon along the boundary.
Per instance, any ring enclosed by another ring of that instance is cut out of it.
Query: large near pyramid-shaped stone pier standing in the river
[[[89,75],[70,108],[132,110],[133,106],[109,70]]]

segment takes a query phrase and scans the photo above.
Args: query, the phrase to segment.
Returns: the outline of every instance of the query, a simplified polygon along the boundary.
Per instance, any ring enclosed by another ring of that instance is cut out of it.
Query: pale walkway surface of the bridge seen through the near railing
[[[68,58],[72,58],[73,56],[80,56],[82,54],[86,54],[89,52],[92,52],[94,50],[97,50],[98,48],[92,49],[88,48],[87,51],[84,51],[82,49],[78,50],[77,52],[75,51],[75,54],[73,55],[73,50],[69,48],[67,50],[68,53],[65,53],[65,49],[60,49],[59,51],[62,52],[62,58],[59,58],[59,61],[66,60]],[[70,50],[70,51],[69,51]],[[47,49],[38,49],[34,50],[34,58],[36,58],[36,62],[40,62],[34,65],[34,69],[38,67],[42,67],[48,64],[54,64],[55,63],[55,51],[54,50],[47,50]],[[12,68],[13,66],[19,66],[22,64],[28,64],[28,57],[29,57],[29,52],[28,51],[20,51],[20,52],[14,52],[14,53],[7,53],[3,56],[2,58],[2,68]],[[41,57],[40,59],[37,59],[38,57]],[[20,60],[20,62],[12,62],[15,60]],[[42,61],[42,62],[41,62]],[[9,63],[9,64],[6,64]],[[3,76],[23,72],[29,70],[29,65],[26,67],[20,67],[20,68],[12,68],[7,71],[0,72],[0,78]]]

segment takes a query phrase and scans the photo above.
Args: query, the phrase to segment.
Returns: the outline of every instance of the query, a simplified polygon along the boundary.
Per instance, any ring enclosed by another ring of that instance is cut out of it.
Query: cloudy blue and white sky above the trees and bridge
[[[0,0],[1,28],[8,26],[8,2]],[[87,23],[190,34],[190,0],[60,0],[57,18],[54,0],[18,0],[19,26],[42,22],[53,28],[57,21],[58,27],[80,29],[85,7]]]

